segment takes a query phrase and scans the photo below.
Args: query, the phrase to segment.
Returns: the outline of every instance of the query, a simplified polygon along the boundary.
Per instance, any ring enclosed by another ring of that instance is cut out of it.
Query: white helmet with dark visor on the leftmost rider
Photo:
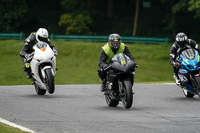
[[[39,28],[36,32],[36,40],[37,42],[47,42],[49,37],[49,33],[45,28]]]

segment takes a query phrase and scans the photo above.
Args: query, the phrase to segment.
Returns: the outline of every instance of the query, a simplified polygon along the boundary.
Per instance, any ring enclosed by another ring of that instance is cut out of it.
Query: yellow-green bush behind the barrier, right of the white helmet
[[[89,29],[91,23],[92,19],[88,15],[71,15],[66,13],[60,17],[59,26],[66,28],[67,35],[91,35],[92,32]]]

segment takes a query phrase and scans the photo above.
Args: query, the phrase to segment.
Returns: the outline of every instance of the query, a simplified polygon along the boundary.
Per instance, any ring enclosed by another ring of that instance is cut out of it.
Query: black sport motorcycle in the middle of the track
[[[116,107],[122,101],[125,108],[130,108],[133,103],[134,71],[138,65],[123,53],[112,58],[107,70],[107,84],[105,90],[106,103]]]

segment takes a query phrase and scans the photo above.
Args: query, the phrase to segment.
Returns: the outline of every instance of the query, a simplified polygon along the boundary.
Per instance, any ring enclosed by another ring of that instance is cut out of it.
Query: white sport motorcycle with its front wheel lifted
[[[31,57],[31,75],[36,93],[44,95],[46,90],[53,94],[55,90],[56,56],[47,43],[37,43]]]

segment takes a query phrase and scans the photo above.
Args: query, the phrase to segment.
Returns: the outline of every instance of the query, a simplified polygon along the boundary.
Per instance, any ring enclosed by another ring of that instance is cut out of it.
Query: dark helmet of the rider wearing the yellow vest
[[[111,48],[114,50],[118,50],[121,44],[121,37],[119,34],[111,34],[108,38],[109,40],[109,45]]]

